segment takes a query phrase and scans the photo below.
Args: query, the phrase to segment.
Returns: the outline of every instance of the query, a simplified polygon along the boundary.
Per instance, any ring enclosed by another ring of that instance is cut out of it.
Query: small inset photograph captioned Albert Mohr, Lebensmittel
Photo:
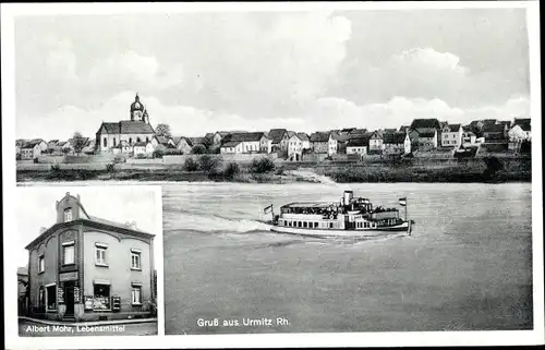
[[[20,336],[157,335],[160,188],[70,191],[16,191]]]

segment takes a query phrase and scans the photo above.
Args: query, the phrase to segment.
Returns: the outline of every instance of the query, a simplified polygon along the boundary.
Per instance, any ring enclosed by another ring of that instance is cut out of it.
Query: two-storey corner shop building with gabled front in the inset
[[[57,221],[28,250],[29,312],[38,318],[148,317],[154,234],[87,214],[80,196],[57,202]]]

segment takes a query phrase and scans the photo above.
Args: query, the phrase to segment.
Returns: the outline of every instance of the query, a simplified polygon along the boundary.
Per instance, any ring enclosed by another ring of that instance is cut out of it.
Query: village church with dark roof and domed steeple
[[[149,116],[136,94],[130,107],[130,119],[119,122],[102,122],[96,133],[96,153],[112,153],[132,148],[136,143],[148,143],[155,135],[149,124]]]

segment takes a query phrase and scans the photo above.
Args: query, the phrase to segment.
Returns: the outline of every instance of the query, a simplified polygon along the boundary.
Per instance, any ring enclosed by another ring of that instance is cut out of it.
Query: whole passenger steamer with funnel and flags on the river
[[[280,207],[274,213],[272,205],[264,209],[271,213],[270,230],[313,237],[376,237],[396,232],[411,234],[413,220],[407,218],[407,198],[399,198],[404,207],[404,219],[399,209],[373,207],[368,198],[353,197],[344,191],[339,202],[296,202]]]

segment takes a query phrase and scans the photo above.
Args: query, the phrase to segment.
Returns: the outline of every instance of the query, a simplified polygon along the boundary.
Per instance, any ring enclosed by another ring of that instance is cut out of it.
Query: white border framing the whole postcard
[[[2,152],[3,195],[13,198],[15,191],[14,149],[14,28],[16,15],[164,13],[204,11],[308,11],[308,10],[408,10],[463,8],[522,8],[526,9],[530,41],[532,114],[541,116],[541,51],[540,3],[537,1],[467,1],[467,2],[266,2],[266,3],[68,3],[68,4],[2,4]],[[541,119],[533,118],[534,130],[541,131]],[[210,335],[164,336],[162,258],[158,257],[159,325],[157,336],[122,337],[46,337],[17,336],[16,266],[11,260],[14,246],[13,206],[3,206],[4,244],[4,327],[9,349],[112,349],[112,348],[271,348],[271,347],[427,347],[427,346],[492,346],[544,343],[543,307],[543,217],[542,217],[542,149],[541,133],[533,136],[532,149],[532,230],[534,330],[513,331],[414,331],[414,333],[342,333],[342,334],[275,334],[275,335]],[[5,201],[4,201],[5,204]]]

